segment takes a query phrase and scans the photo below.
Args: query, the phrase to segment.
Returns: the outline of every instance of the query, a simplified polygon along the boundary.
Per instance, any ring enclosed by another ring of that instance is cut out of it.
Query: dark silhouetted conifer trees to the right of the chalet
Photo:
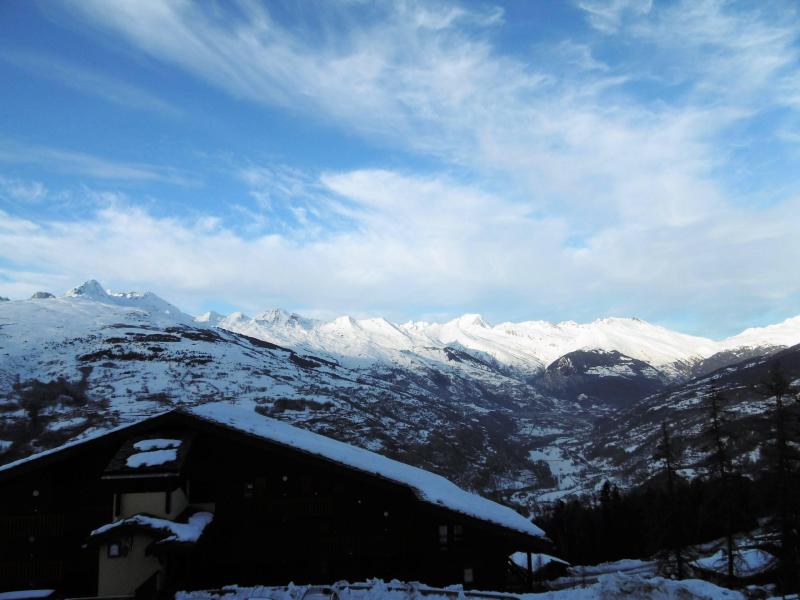
[[[777,363],[758,391],[769,402],[770,427],[755,476],[739,468],[727,399],[712,389],[704,398],[699,474],[680,476],[680,445],[662,423],[656,475],[647,484],[622,492],[606,481],[594,496],[557,502],[537,519],[556,552],[572,564],[660,556],[664,570],[681,578],[689,574],[688,546],[724,539],[734,584],[737,534],[763,526],[771,533],[764,549],[778,558],[774,582],[783,592],[800,590],[800,395]]]

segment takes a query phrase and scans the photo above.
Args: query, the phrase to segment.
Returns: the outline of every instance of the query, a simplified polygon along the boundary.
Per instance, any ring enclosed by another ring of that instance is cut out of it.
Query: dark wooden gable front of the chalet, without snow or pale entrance
[[[121,445],[148,432],[191,436],[180,472],[103,479]],[[0,591],[96,594],[89,532],[112,520],[115,494],[153,486],[213,506],[197,544],[160,557],[173,590],[371,577],[503,589],[507,557],[542,549],[404,485],[173,412],[0,471]]]

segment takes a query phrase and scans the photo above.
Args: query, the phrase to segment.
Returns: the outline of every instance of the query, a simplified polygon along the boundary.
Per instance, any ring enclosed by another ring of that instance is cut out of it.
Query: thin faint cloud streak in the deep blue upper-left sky
[[[2,50],[0,60],[118,106],[170,117],[181,114],[173,104],[136,85],[56,56]]]

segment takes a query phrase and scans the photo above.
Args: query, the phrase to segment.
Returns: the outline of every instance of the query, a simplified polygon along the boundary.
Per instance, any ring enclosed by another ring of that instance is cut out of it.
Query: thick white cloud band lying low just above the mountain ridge
[[[404,320],[501,304],[490,318],[622,312],[669,323],[689,314],[725,333],[758,311],[790,311],[800,294],[790,276],[800,200],[669,228],[611,225],[576,247],[564,219],[447,178],[355,171],[326,174],[320,186],[346,203],[355,228],[243,236],[220,220],[159,218],[118,202],[77,222],[5,214],[0,256],[13,266],[3,274],[31,281],[30,291],[96,277],[193,311],[214,298],[248,311],[289,303]]]

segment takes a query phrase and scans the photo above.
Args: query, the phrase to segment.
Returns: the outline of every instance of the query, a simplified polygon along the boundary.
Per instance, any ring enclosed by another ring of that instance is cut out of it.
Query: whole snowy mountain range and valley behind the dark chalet
[[[753,385],[769,355],[800,375],[797,348],[766,343],[793,339],[794,320],[786,323],[719,350],[735,343],[636,319],[492,327],[477,315],[444,325],[280,310],[193,318],[154,294],[90,281],[60,298],[0,304],[0,462],[166,407],[227,401],[533,507],[591,493],[606,478],[647,478],[663,420],[696,469],[692,435],[712,382],[742,427],[757,430],[751,421],[769,402]],[[584,342],[598,347],[575,348]],[[756,465],[755,438],[743,440],[741,456]]]

